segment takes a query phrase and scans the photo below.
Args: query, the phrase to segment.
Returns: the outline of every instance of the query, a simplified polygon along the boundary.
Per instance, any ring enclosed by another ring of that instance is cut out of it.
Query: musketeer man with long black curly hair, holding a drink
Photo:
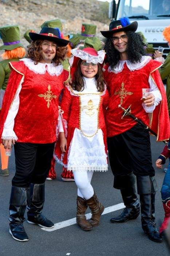
[[[161,63],[145,56],[140,35],[134,33],[138,23],[128,18],[112,21],[107,38],[104,79],[110,91],[107,109],[107,145],[114,174],[114,188],[120,189],[125,208],[111,222],[121,223],[139,216],[135,191],[135,176],[141,203],[142,229],[155,242],[162,242],[155,224],[155,170],[151,161],[150,138],[147,129],[130,116],[121,119],[127,109],[157,133],[157,141],[169,139],[170,124],[165,89],[159,75]],[[142,88],[151,88],[142,103]],[[149,114],[151,120],[149,120]],[[135,176],[134,176],[135,175]]]

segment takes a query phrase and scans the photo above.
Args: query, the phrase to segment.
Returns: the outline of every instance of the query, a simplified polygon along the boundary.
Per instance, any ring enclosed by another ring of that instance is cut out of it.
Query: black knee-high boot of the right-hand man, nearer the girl
[[[113,223],[122,223],[136,219],[140,214],[139,202],[135,191],[135,176],[133,173],[114,177],[114,188],[120,189],[124,205],[123,212],[112,218]]]

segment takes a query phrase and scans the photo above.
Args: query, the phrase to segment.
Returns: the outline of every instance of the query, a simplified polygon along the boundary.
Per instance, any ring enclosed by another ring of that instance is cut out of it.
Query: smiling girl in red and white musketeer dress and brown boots
[[[104,172],[108,168],[103,110],[109,96],[101,65],[105,53],[93,48],[76,48],[71,52],[74,55],[71,60],[72,84],[64,89],[60,142],[56,143],[54,155],[64,167],[73,171],[78,187],[76,222],[83,230],[91,230],[99,224],[104,211],[92,188],[91,178],[94,171]],[[89,222],[85,216],[88,206],[92,211]]]

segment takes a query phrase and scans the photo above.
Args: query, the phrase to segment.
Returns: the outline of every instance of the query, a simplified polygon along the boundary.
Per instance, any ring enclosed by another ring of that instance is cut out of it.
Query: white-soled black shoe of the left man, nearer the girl
[[[54,223],[52,221],[49,221],[43,214],[38,213],[38,214],[32,214],[28,213],[28,223],[30,224],[37,224],[40,227],[45,227],[46,229],[51,229],[54,227]]]

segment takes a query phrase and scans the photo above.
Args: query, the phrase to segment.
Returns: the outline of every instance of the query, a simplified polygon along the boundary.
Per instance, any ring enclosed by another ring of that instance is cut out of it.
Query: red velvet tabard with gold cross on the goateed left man
[[[64,72],[59,76],[51,76],[47,71],[45,74],[35,74],[25,66],[24,75],[14,125],[17,142],[55,142]]]

